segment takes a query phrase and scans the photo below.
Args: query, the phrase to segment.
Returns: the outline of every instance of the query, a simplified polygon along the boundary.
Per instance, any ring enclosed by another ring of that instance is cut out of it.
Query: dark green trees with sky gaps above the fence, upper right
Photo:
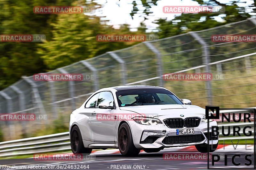
[[[201,1],[195,0],[199,4],[204,4],[208,6],[221,5],[225,7],[225,12],[221,15],[219,13],[198,13],[198,14],[181,14],[175,17],[172,21],[167,21],[166,18],[161,18],[157,20],[156,24],[158,27],[159,38],[170,37],[174,35],[179,35],[182,33],[187,33],[189,31],[200,31],[208,28],[213,28],[216,26],[225,25],[232,22],[242,21],[251,16],[245,12],[244,7],[238,7],[237,2],[234,1],[232,4],[226,5],[221,4],[218,1]],[[218,22],[215,17],[220,17],[224,22]]]

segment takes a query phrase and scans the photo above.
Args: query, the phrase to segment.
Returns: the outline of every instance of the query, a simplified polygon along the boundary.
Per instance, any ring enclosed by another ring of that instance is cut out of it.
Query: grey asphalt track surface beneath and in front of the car
[[[172,154],[198,154],[198,152],[172,152]],[[215,153],[215,152],[214,152]],[[221,169],[247,169],[253,168],[254,157],[252,156],[252,166],[234,166],[231,157],[235,153],[226,153],[228,155],[228,165],[224,166],[224,154],[221,155],[220,161],[210,168]],[[245,153],[239,153],[240,158],[236,158],[236,162],[246,163],[244,160]],[[253,154],[252,154],[253,155]],[[33,158],[27,159],[6,159],[0,160],[0,169],[146,169],[146,170],[162,170],[162,169],[207,169],[207,160],[170,160],[163,159],[163,153],[140,153],[137,157],[123,157],[118,154],[106,154],[95,156],[93,159],[72,160],[72,161],[37,161]],[[5,167],[3,167],[5,165]],[[13,166],[16,167],[13,167]],[[34,168],[31,168],[31,167]],[[51,166],[55,166],[54,168]],[[73,166],[73,167],[71,167]],[[130,167],[129,167],[130,166]],[[25,168],[27,167],[27,168]],[[58,167],[58,168],[57,168]]]

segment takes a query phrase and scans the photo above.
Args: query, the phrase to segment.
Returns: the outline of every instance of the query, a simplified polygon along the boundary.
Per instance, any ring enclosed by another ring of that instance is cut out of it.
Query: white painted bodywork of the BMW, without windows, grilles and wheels
[[[143,86],[141,86],[143,87]],[[152,86],[152,88],[155,86]],[[165,88],[163,88],[165,89]],[[165,89],[167,90],[167,89]],[[84,108],[86,102],[94,94],[102,91],[112,92],[114,101],[116,103],[116,109],[102,109],[102,108]],[[119,107],[116,99],[117,90],[114,88],[104,88],[94,92],[81,107],[77,108],[70,115],[69,131],[73,125],[77,125],[81,131],[83,143],[85,148],[118,148],[117,144],[117,132],[121,122],[125,121],[131,131],[133,137],[133,143],[136,148],[160,148],[160,147],[173,147],[173,146],[188,146],[195,144],[207,143],[207,138],[200,143],[188,143],[188,144],[163,144],[162,141],[166,136],[175,136],[177,128],[169,128],[163,122],[167,118],[188,118],[199,117],[201,122],[198,127],[195,127],[195,134],[202,134],[207,132],[207,123],[202,122],[202,118],[205,116],[205,109],[195,105],[142,105],[142,106],[128,106]],[[177,97],[177,96],[176,96]],[[92,112],[95,112],[92,113]],[[97,114],[105,115],[118,115],[118,114],[140,114],[141,116],[154,117],[159,119],[162,124],[156,125],[142,125],[132,119],[121,119],[116,121],[99,121],[96,119]],[[180,115],[184,115],[181,117]],[[210,122],[210,126],[217,126],[216,121]],[[186,127],[179,129],[188,129]],[[144,138],[148,136],[159,137],[153,144],[140,144]],[[218,140],[210,141],[211,144],[217,144]]]

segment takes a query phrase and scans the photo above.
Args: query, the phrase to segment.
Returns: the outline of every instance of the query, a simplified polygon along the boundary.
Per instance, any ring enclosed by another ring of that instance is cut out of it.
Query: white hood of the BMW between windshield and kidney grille
[[[161,117],[161,119],[177,117],[185,119],[186,117],[203,117],[205,115],[205,109],[195,105],[142,105],[120,107],[120,110],[136,112],[147,117]]]

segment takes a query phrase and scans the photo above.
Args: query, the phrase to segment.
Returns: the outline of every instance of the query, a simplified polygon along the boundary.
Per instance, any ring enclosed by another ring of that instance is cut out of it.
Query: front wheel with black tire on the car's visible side
[[[140,149],[137,149],[132,140],[132,132],[127,123],[121,124],[118,130],[118,148],[123,156],[138,156]]]

